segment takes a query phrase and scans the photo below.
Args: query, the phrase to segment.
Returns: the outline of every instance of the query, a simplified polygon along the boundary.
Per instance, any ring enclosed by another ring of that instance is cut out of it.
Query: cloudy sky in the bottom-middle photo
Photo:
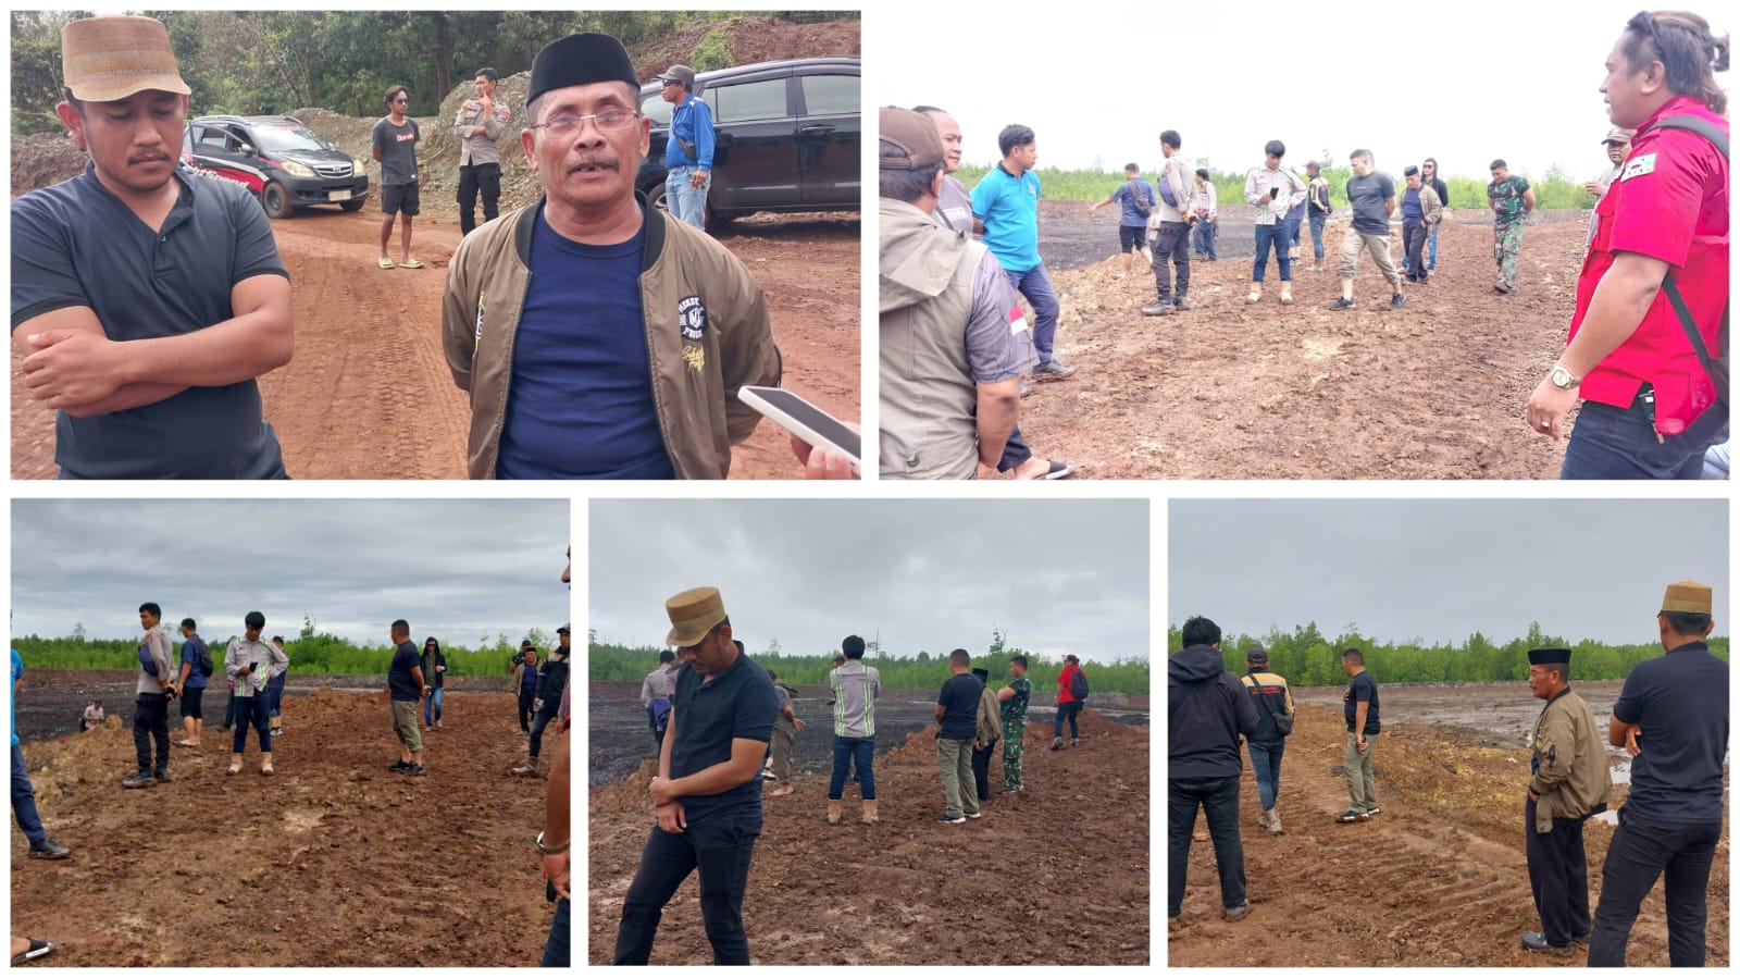
[[[992,626],[1049,658],[1148,656],[1147,501],[619,501],[592,510],[599,639],[661,646],[665,599],[717,586],[762,651],[830,653],[851,633],[889,654],[964,647]]]

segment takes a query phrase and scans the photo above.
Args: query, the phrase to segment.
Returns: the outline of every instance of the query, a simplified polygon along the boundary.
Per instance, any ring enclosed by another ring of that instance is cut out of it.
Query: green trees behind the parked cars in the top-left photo
[[[12,134],[61,131],[61,26],[80,10],[12,12]],[[478,68],[515,75],[552,40],[604,31],[630,49],[717,24],[679,52],[696,71],[734,64],[722,24],[738,17],[856,19],[856,12],[727,10],[157,10],[193,89],[190,115],[275,115],[327,108],[383,115],[390,85],[411,89],[411,115],[433,115]]]

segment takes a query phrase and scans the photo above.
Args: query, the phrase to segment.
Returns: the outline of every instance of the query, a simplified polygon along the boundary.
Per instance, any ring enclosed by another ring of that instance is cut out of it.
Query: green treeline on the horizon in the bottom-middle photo
[[[658,668],[659,651],[663,651],[661,646],[628,647],[593,640],[588,646],[586,679],[640,682]],[[973,654],[973,667],[990,670],[992,684],[1002,686],[1009,680],[1009,656],[1014,654],[1027,654],[1027,677],[1034,680],[1034,693],[1056,691],[1063,663],[1044,661],[1034,653],[1007,646],[1000,632],[992,633],[992,642],[983,653]],[[832,651],[790,654],[780,651],[778,640],[769,642],[767,649],[750,649],[750,656],[764,668],[780,673],[780,682],[788,686],[823,686],[828,682],[828,670],[833,668]],[[877,668],[886,689],[941,689],[950,675],[948,651],[891,656],[875,642],[868,642],[863,661]],[[1088,661],[1082,663],[1082,672],[1094,693],[1148,694],[1148,660],[1121,658],[1112,665]]]

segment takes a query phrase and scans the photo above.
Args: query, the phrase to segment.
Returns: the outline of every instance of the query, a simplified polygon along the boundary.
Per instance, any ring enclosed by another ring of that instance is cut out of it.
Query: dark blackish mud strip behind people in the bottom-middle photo
[[[652,731],[640,707],[639,682],[595,680],[586,703],[586,783],[609,785],[628,778],[654,757]],[[800,774],[826,778],[833,771],[833,708],[826,686],[799,686],[792,712],[804,720],[792,748],[792,766]],[[1148,726],[1148,698],[1122,693],[1094,693],[1091,698],[1107,720]],[[875,703],[877,757],[894,750],[907,736],[934,724],[936,694],[926,689],[884,689]],[[1037,696],[1028,708],[1030,722],[1051,729],[1056,703]]]

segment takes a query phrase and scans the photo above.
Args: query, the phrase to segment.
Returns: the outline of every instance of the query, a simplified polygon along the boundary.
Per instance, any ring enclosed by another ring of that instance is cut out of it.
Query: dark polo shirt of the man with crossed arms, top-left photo
[[[230,289],[284,275],[271,224],[240,184],[181,167],[181,200],[153,231],[84,176],[12,202],[12,329],[89,306],[110,339],[179,336],[233,318]],[[96,418],[57,412],[63,479],[282,479],[259,385],[195,386]]]

